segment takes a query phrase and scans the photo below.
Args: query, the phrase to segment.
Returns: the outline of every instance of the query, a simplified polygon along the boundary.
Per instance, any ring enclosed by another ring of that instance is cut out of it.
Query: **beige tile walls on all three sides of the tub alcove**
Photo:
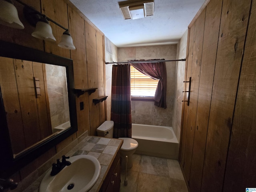
[[[139,59],[164,58],[174,60],[186,58],[188,31],[183,34],[178,45],[141,46],[117,48],[105,37],[105,60],[128,61]],[[132,101],[132,123],[172,126],[180,141],[180,125],[182,114],[183,80],[186,62],[166,62],[167,70],[167,108],[154,106],[154,102]],[[112,65],[106,65],[107,119],[111,114],[111,73]]]

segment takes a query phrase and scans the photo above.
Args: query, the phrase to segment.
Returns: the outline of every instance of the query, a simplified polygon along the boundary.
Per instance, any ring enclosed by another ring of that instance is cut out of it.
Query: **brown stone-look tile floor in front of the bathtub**
[[[120,192],[188,192],[177,160],[145,155],[133,155],[133,166],[121,170]]]

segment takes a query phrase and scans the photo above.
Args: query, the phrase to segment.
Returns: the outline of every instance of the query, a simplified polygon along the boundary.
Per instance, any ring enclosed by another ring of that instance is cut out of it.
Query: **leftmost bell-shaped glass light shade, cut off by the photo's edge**
[[[18,11],[10,0],[0,0],[0,24],[16,29],[24,29]]]

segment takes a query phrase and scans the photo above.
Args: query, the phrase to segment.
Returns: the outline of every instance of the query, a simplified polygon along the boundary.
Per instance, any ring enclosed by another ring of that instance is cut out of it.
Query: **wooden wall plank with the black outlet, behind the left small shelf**
[[[70,33],[72,34],[74,46],[76,50],[71,50],[71,58],[73,59],[75,88],[88,88],[87,76],[87,60],[86,60],[86,42],[85,42],[85,26],[84,19],[68,6]],[[80,103],[84,106],[80,110]],[[76,97],[76,114],[78,131],[77,136],[82,135],[86,130],[90,134],[90,110],[89,95],[85,93],[79,98]]]

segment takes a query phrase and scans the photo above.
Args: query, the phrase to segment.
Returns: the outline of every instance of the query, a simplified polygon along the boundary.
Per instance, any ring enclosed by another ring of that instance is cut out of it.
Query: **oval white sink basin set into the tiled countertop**
[[[44,176],[39,192],[87,192],[100,175],[100,162],[90,155],[78,155],[67,159],[70,166],[64,167],[55,176],[49,170]]]

